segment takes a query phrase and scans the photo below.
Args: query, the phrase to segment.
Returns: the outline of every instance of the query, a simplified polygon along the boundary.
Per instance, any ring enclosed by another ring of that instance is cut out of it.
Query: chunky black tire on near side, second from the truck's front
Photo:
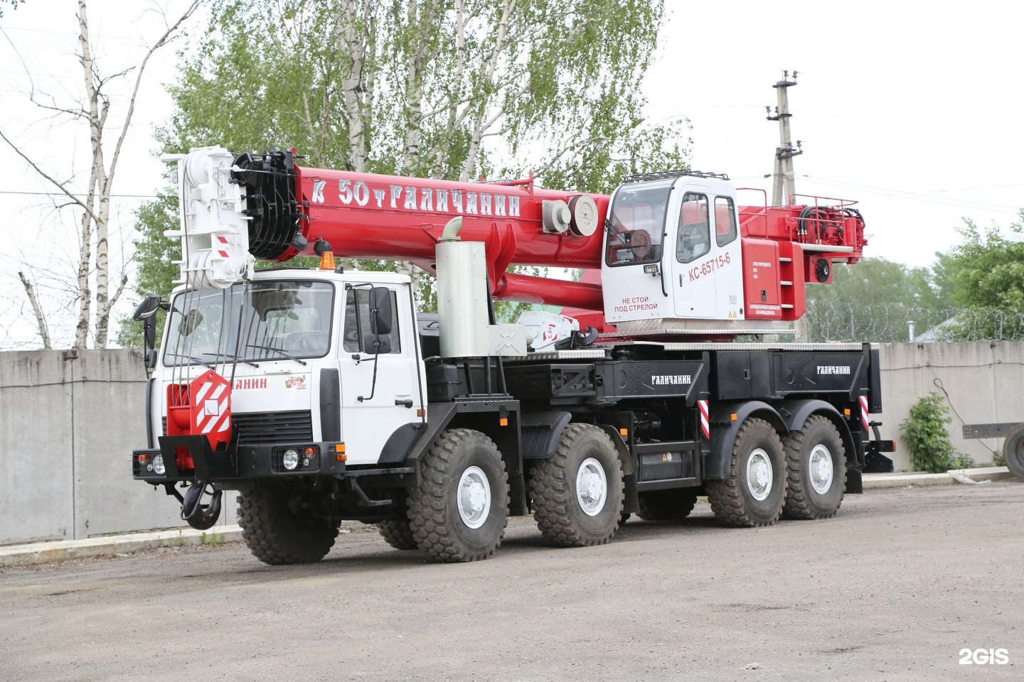
[[[604,500],[595,513],[588,513],[582,502],[586,495],[577,485],[585,465],[588,479],[594,475],[594,462],[603,470]],[[608,542],[622,520],[625,498],[623,465],[611,439],[598,426],[569,424],[555,452],[534,467],[529,492],[534,518],[548,542],[559,547]]]

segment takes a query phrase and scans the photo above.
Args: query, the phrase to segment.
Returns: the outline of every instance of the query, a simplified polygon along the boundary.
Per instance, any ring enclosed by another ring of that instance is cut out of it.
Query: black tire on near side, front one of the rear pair
[[[757,457],[770,462],[771,485],[764,499],[757,499],[748,482],[750,460]],[[706,481],[705,490],[715,516],[725,526],[757,528],[771,526],[782,513],[785,500],[785,456],[778,434],[764,419],[750,417],[736,433],[729,460],[729,478]]]

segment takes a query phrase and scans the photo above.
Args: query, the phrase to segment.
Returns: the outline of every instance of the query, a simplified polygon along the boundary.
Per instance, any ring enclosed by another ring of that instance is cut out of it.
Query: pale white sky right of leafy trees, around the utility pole
[[[1004,230],[1024,208],[1024,7],[669,0],[647,75],[649,120],[685,116],[692,168],[771,191],[788,88],[796,191],[859,201],[865,256],[913,267],[961,241],[963,218]],[[809,201],[808,201],[809,202]]]

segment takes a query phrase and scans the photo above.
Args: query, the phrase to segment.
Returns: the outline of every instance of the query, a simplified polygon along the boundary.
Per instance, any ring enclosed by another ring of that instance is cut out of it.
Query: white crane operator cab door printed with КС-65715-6
[[[736,319],[742,313],[742,271],[732,197],[685,189],[667,225],[676,317]]]

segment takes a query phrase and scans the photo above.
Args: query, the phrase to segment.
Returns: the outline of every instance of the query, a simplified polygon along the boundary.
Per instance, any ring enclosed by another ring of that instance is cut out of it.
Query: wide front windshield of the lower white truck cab
[[[319,358],[331,347],[333,309],[329,282],[239,282],[183,291],[171,303],[164,364]]]

